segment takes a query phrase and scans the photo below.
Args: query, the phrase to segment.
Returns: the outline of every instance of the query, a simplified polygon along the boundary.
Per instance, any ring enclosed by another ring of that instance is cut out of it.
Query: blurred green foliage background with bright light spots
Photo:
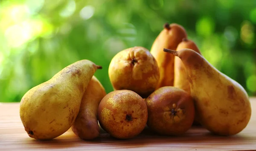
[[[113,91],[119,51],[150,50],[163,24],[178,23],[204,57],[256,95],[256,0],[2,0],[0,102],[19,102],[65,66],[89,59]]]

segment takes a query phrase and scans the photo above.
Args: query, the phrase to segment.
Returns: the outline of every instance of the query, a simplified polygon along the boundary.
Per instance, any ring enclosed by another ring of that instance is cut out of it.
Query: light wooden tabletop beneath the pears
[[[117,140],[101,131],[98,139],[85,141],[71,130],[53,140],[40,141],[30,138],[19,116],[19,103],[0,103],[0,151],[17,150],[168,150],[168,151],[227,151],[256,149],[256,98],[251,98],[252,116],[247,127],[231,137],[212,135],[201,127],[192,127],[181,137],[163,137],[148,128],[137,137]]]

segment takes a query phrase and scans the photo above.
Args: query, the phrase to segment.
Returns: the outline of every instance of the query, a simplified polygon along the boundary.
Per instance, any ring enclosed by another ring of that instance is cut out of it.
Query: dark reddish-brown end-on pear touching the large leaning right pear
[[[182,135],[191,128],[195,118],[193,98],[184,90],[164,86],[146,100],[148,127],[163,135]]]

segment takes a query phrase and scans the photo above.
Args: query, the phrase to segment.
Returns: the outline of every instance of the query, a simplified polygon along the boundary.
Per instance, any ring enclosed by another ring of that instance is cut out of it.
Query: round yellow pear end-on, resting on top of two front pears
[[[146,98],[156,89],[159,69],[148,49],[136,46],[112,58],[108,75],[114,90],[131,90]]]

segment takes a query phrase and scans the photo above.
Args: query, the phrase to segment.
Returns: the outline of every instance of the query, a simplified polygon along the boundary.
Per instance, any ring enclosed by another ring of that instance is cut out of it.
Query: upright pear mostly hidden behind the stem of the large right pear
[[[188,40],[184,38],[182,42],[179,43],[179,45],[177,46],[176,51],[179,51],[183,48],[189,48],[201,54],[198,46],[193,40]],[[177,56],[175,56],[174,61],[174,86],[177,88],[181,88],[190,94],[190,86],[189,80],[187,80],[186,69],[180,58]]]

